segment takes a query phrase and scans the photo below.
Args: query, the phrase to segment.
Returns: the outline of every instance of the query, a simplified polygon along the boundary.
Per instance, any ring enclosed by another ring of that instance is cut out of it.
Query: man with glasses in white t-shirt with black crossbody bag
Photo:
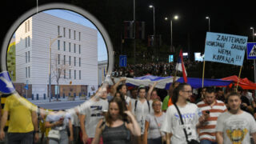
[[[166,111],[166,118],[161,130],[166,133],[167,144],[186,144],[192,139],[198,141],[196,128],[201,127],[205,122],[205,116],[194,103],[187,102],[192,95],[192,88],[189,84],[181,83],[174,89],[172,102],[178,106],[182,114],[182,125],[178,110],[174,105],[169,106]],[[186,135],[183,128],[186,129]]]

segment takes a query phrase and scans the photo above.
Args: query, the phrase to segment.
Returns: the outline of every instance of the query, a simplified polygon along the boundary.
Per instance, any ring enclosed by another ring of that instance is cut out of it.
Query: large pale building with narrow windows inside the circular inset
[[[57,38],[58,35],[62,38]],[[15,33],[16,82],[32,86],[32,94],[48,95],[51,45],[52,94],[61,71],[60,94],[93,94],[98,86],[97,30],[46,13],[34,14]]]

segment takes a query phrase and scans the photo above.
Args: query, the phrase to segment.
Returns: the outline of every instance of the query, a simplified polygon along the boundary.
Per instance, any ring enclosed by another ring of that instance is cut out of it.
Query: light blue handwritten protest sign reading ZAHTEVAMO
[[[242,66],[247,37],[207,32],[205,61]]]

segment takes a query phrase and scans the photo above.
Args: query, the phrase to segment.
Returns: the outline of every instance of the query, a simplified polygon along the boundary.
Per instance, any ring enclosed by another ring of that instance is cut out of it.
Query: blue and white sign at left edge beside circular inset
[[[14,85],[10,80],[10,75],[7,71],[0,73],[0,91],[4,94],[14,92]]]

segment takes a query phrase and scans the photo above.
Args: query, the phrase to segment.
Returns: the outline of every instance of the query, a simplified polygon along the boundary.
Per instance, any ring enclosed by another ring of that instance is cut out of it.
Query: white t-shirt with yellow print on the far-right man
[[[250,134],[256,133],[256,122],[246,111],[242,114],[230,114],[226,111],[218,117],[216,131],[223,133],[225,144],[248,144]]]

